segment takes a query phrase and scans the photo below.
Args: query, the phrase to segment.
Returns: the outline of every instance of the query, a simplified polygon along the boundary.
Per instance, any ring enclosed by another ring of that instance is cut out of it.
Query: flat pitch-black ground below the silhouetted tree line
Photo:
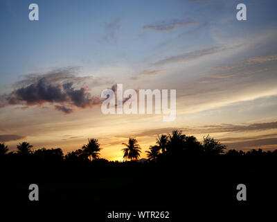
[[[276,207],[275,157],[206,157],[163,163],[1,162],[5,207]],[[39,186],[39,201],[28,186]],[[236,186],[247,186],[247,201]]]

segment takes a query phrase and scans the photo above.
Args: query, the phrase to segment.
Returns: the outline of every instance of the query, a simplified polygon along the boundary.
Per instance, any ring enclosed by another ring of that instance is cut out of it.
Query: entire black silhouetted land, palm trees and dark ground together
[[[0,143],[0,205],[32,205],[23,190],[37,183],[42,187],[39,205],[46,207],[276,206],[277,150],[227,150],[210,135],[199,142],[181,130],[157,135],[156,144],[145,151],[146,161],[139,160],[135,138],[123,145],[125,161],[118,162],[100,158],[95,138],[65,154],[61,148],[34,151],[28,142],[10,151]],[[247,185],[245,203],[235,198],[240,183]],[[122,194],[134,198],[125,200]]]

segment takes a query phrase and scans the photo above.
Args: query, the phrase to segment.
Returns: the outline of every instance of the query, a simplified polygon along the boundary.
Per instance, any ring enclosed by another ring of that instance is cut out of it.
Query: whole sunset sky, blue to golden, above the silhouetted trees
[[[30,21],[30,3],[39,20]],[[238,21],[238,3],[247,20]],[[181,129],[227,148],[277,148],[277,2],[274,0],[0,1],[0,142],[10,150],[81,148],[141,157]],[[103,114],[102,90],[176,89],[176,119]]]

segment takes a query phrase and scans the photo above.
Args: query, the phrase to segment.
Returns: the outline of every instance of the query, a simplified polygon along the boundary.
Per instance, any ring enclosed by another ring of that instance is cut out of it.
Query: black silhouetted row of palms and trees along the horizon
[[[125,148],[123,151],[123,160],[135,161],[141,156],[141,146],[135,138],[130,137],[127,143],[123,143]],[[3,156],[34,156],[44,160],[68,160],[68,161],[87,161],[105,160],[100,158],[100,144],[98,139],[88,139],[87,144],[82,148],[69,153],[62,152],[61,148],[39,148],[33,150],[33,146],[28,142],[22,142],[17,145],[17,151],[8,152],[8,146],[0,143],[0,157]],[[262,155],[277,155],[275,151],[262,151],[262,149],[252,149],[250,151],[226,150],[226,146],[219,140],[207,135],[203,138],[203,142],[199,142],[194,136],[186,136],[181,130],[174,130],[171,134],[158,135],[156,144],[150,146],[148,151],[145,151],[148,160],[156,162],[158,160],[179,159],[181,157],[204,157],[204,156],[262,156]]]

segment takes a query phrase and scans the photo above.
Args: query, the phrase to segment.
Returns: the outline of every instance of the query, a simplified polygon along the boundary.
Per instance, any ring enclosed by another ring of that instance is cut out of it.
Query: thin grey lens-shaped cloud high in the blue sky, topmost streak
[[[151,24],[148,26],[143,26],[143,29],[152,29],[154,31],[160,32],[170,32],[175,28],[181,28],[184,26],[197,26],[199,23],[193,21],[183,21],[183,20],[172,20],[170,22],[161,22],[159,24]]]

